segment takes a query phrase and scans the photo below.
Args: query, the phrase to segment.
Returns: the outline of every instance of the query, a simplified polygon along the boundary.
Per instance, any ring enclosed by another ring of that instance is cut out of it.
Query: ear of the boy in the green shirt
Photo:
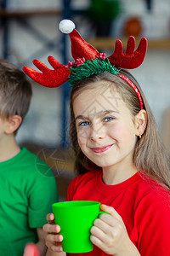
[[[21,121],[22,121],[22,118],[18,114],[10,116],[8,118],[7,125],[5,127],[5,133],[11,134],[14,131],[16,131],[19,128]]]

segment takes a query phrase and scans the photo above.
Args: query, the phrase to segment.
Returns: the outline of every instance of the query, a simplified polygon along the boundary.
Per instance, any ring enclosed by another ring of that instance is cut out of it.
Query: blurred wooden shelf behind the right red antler
[[[127,38],[121,38],[122,45],[126,49]],[[140,38],[136,38],[136,46],[139,45]],[[88,38],[88,43],[92,44],[96,49],[114,49],[116,38]],[[170,38],[148,39],[148,49],[170,49]]]

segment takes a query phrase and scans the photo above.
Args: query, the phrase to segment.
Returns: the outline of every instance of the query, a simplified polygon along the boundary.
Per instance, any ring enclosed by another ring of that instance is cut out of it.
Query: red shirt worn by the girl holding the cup
[[[170,255],[170,193],[141,172],[116,185],[106,185],[101,171],[74,178],[66,201],[99,201],[114,207],[141,256]],[[94,246],[90,253],[70,255],[109,255]]]

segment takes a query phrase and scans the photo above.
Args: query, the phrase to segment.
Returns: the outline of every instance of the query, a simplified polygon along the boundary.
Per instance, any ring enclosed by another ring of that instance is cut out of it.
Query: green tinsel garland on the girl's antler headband
[[[69,83],[71,86],[77,83],[77,81],[88,78],[97,73],[110,72],[118,74],[118,69],[111,66],[109,59],[101,60],[96,58],[95,60],[87,60],[81,66],[73,65],[70,68],[71,75],[69,76]]]

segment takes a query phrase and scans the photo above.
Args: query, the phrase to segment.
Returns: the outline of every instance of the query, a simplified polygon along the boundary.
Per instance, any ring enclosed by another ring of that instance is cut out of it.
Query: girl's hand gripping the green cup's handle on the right
[[[116,256],[139,256],[139,251],[127,235],[127,229],[121,216],[113,207],[101,205],[103,211],[94,221],[91,229],[91,241],[102,251]]]

